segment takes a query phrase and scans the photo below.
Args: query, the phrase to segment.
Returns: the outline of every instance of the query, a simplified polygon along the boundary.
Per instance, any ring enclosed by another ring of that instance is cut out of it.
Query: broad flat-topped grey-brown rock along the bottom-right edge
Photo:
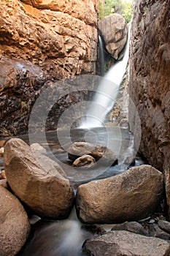
[[[166,256],[170,244],[160,238],[137,235],[128,231],[111,231],[85,241],[83,249],[93,256]]]

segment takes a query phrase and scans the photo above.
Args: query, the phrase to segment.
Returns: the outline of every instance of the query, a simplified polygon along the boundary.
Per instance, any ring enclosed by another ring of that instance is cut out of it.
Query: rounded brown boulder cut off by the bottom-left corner
[[[28,216],[17,197],[0,186],[0,255],[16,255],[28,238]]]

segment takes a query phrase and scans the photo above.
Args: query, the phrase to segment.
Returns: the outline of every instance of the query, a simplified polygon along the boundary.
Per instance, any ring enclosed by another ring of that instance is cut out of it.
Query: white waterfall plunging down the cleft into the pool
[[[117,63],[109,69],[104,78],[101,78],[101,83],[98,86],[93,102],[91,102],[88,108],[85,121],[82,122],[80,128],[88,129],[104,126],[104,119],[115,104],[117,92],[128,64],[129,34],[128,32],[128,40],[123,59],[117,61]]]

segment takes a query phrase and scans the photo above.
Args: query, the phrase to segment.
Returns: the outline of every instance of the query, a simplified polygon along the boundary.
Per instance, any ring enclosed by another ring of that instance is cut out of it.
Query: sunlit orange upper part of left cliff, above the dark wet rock
[[[97,42],[93,1],[34,1],[34,7],[25,2],[2,1],[0,53],[51,69],[51,75],[60,72],[61,78],[93,72]]]

